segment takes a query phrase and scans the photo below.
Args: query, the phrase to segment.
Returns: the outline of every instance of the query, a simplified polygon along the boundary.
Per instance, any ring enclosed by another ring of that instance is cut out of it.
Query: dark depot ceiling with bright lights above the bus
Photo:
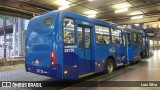
[[[33,14],[66,9],[113,23],[131,24],[159,21],[159,5],[160,0],[2,0],[0,14],[28,18]],[[143,18],[131,19],[134,16]]]

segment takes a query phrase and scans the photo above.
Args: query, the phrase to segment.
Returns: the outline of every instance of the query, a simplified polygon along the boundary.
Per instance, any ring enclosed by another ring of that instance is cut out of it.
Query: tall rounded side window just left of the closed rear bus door
[[[75,24],[72,19],[63,20],[63,39],[65,44],[75,44]]]

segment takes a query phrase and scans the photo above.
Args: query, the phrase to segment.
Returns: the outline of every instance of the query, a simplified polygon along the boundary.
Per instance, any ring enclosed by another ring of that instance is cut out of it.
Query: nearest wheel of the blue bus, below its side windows
[[[109,58],[105,65],[105,71],[106,73],[110,74],[113,72],[113,70],[114,70],[114,62],[111,58]]]

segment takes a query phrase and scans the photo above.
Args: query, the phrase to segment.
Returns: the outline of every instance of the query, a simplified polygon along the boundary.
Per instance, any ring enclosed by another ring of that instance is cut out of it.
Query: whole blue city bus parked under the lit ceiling
[[[141,47],[143,38],[141,43],[132,43],[136,33],[136,37],[144,37],[136,30],[121,30],[109,22],[70,11],[51,11],[29,22],[25,68],[54,79],[111,73],[117,66],[137,61],[135,57],[145,51]]]

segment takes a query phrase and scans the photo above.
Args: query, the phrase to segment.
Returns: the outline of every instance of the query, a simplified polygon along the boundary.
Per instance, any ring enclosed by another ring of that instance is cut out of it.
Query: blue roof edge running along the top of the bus
[[[68,17],[72,17],[72,18],[76,18],[76,19],[79,19],[79,20],[91,22],[91,23],[94,23],[94,24],[97,24],[97,25],[107,26],[107,27],[110,27],[110,28],[113,28],[113,29],[124,30],[126,32],[129,31],[129,32],[135,32],[135,33],[144,33],[143,31],[139,31],[139,30],[136,30],[136,29],[125,28],[123,26],[120,26],[119,24],[110,23],[110,22],[103,21],[103,20],[100,20],[100,19],[89,18],[87,16],[84,16],[84,15],[81,15],[81,14],[78,14],[78,13],[75,13],[75,12],[67,11],[67,10],[54,10],[54,11],[50,11],[50,12],[44,13],[42,15],[36,16],[34,18],[49,16],[49,15],[52,15],[53,13],[60,13],[60,14],[63,14],[65,16],[68,16]]]

